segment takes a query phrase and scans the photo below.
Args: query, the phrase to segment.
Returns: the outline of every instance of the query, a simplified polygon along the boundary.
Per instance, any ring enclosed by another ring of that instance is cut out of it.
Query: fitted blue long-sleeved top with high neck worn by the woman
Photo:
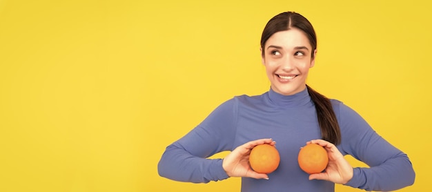
[[[369,167],[354,168],[348,186],[367,191],[392,191],[413,184],[409,157],[380,135],[355,111],[335,99],[333,110],[340,124],[342,155],[352,155]],[[210,113],[192,131],[170,144],[158,164],[159,175],[181,182],[210,182],[228,178],[222,159],[208,159],[233,151],[246,142],[272,138],[280,163],[270,180],[242,177],[242,191],[334,191],[335,184],[308,180],[297,155],[310,140],[320,139],[315,105],[307,88],[295,95],[269,90],[257,96],[237,96]]]

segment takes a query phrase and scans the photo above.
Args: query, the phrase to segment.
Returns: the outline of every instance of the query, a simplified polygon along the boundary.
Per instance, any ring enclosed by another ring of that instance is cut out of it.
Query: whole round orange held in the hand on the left
[[[276,147],[270,144],[259,144],[252,148],[249,163],[257,173],[271,173],[279,166],[280,156]]]

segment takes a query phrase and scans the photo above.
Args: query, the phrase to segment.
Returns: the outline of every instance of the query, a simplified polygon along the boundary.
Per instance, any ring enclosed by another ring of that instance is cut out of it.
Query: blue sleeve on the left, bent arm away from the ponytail
[[[230,99],[218,106],[192,131],[166,147],[159,160],[159,175],[195,183],[228,178],[222,168],[222,159],[207,157],[231,149],[236,121],[237,107],[235,100]]]

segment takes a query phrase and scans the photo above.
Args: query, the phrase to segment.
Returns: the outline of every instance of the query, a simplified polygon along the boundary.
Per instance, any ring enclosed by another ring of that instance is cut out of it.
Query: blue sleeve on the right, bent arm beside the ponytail
[[[353,169],[346,183],[366,191],[393,191],[414,183],[415,172],[409,157],[378,135],[353,109],[338,104],[342,153],[367,164]]]

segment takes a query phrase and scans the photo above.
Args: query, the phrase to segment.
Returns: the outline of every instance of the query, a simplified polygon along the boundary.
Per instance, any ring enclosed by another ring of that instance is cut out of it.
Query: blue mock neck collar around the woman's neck
[[[277,106],[304,106],[312,103],[308,88],[304,88],[304,90],[294,95],[282,95],[270,88],[268,91],[268,99],[272,104]]]

